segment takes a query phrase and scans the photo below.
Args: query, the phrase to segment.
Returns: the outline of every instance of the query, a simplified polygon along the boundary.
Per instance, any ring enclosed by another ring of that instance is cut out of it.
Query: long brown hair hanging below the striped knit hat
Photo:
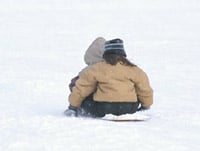
[[[104,54],[103,58],[107,63],[111,65],[116,65],[118,62],[120,62],[121,64],[125,66],[136,67],[134,63],[130,62],[125,56],[122,56],[122,55]]]

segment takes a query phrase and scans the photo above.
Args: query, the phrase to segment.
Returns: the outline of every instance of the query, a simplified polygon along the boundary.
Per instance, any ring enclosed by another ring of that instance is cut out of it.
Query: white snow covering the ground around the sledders
[[[199,151],[200,1],[1,0],[0,150]],[[98,36],[122,38],[154,89],[145,122],[67,118]]]

